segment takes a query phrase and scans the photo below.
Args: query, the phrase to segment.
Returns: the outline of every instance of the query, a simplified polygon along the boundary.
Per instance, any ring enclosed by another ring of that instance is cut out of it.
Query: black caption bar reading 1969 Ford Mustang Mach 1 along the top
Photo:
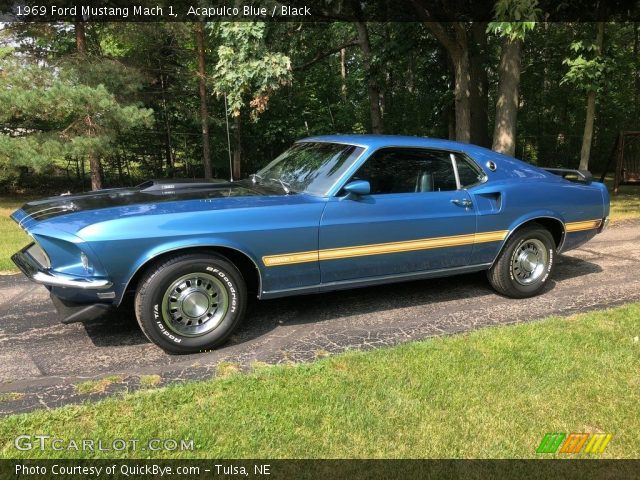
[[[487,22],[495,20],[494,6],[495,0],[1,0],[0,22]],[[539,21],[640,20],[640,0],[539,0],[537,8]]]

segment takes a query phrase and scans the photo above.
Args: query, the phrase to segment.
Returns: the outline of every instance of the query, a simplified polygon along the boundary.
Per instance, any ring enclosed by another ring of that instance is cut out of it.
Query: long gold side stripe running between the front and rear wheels
[[[495,232],[470,233],[451,237],[423,238],[405,242],[377,243],[357,247],[329,248],[310,252],[287,253],[282,255],[268,255],[262,257],[267,267],[277,265],[292,265],[295,263],[316,262],[319,260],[337,260],[340,258],[363,257],[368,255],[382,255],[387,253],[412,252],[429,250],[432,248],[458,247],[473,245],[474,243],[498,242],[505,239],[508,230]]]

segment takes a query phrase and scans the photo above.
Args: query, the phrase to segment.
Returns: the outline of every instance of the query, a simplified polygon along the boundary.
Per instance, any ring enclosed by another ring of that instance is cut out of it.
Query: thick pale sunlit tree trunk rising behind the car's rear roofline
[[[511,156],[516,153],[521,52],[521,40],[504,37],[498,69],[498,99],[492,149]]]

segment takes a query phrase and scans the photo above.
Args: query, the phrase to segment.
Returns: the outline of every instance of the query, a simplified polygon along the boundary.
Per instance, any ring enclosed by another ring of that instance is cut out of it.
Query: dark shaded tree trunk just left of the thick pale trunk
[[[469,56],[471,61],[471,143],[482,147],[489,147],[489,78],[486,65],[487,23],[473,22],[473,51]]]

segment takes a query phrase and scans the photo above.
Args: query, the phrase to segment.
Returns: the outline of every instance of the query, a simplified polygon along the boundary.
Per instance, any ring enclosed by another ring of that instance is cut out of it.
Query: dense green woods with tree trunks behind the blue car
[[[229,178],[230,161],[241,178],[301,137],[367,132],[599,172],[640,130],[638,23],[548,23],[522,0],[495,8],[520,22],[442,23],[414,3],[414,23],[4,24],[0,186]]]

